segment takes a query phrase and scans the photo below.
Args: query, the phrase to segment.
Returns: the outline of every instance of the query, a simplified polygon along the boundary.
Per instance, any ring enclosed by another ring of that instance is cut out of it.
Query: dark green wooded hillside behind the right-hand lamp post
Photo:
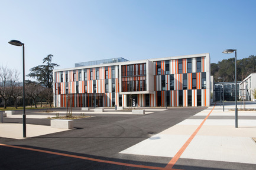
[[[256,72],[256,56],[250,55],[248,58],[238,59],[236,61],[237,81],[242,81],[248,75]],[[223,77],[224,82],[235,81],[235,58],[223,59],[218,64],[210,64],[210,75],[213,75],[214,81],[218,82],[219,77]],[[222,81],[222,80],[221,80]]]

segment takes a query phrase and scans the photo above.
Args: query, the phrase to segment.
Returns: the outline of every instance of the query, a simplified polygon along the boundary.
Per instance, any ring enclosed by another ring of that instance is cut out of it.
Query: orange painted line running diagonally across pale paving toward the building
[[[216,105],[216,104],[215,104]],[[185,149],[187,148],[187,146],[189,146],[190,142],[193,140],[193,138],[195,138],[197,132],[200,130],[200,128],[202,128],[203,124],[205,123],[206,119],[208,119],[209,115],[212,113],[213,109],[215,108],[215,105],[213,106],[212,110],[209,112],[209,114],[206,116],[205,119],[203,119],[203,122],[197,127],[196,131],[193,132],[193,134],[190,136],[189,139],[187,139],[186,143],[182,146],[182,148],[180,148],[180,150],[177,152],[176,155],[174,155],[173,159],[171,159],[171,161],[167,164],[166,169],[171,169],[173,168],[174,164],[176,164],[176,162],[178,161],[178,159],[180,158],[180,156],[182,156],[183,152],[185,151]]]

